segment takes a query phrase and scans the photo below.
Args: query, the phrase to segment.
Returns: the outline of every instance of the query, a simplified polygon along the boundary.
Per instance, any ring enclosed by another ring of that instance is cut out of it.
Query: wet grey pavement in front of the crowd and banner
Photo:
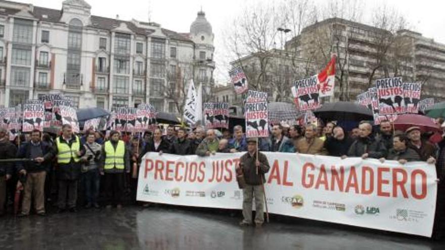
[[[0,249],[445,249],[445,241],[272,216],[239,227],[240,211],[158,206],[0,218]]]

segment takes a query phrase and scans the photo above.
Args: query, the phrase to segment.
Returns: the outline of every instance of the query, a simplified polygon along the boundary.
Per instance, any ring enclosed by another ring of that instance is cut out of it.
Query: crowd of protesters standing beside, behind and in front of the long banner
[[[439,126],[442,122],[438,121]],[[264,202],[259,186],[270,167],[257,150],[326,155],[339,160],[347,157],[374,158],[382,163],[395,160],[402,165],[425,161],[431,166],[435,164],[438,179],[445,177],[445,140],[422,133],[416,126],[393,131],[389,121],[382,121],[379,126],[363,121],[349,132],[334,122],[324,126],[276,124],[266,138],[246,138],[239,125],[233,128],[233,133],[206,130],[202,126],[187,130],[170,125],[165,134],[158,128],[141,136],[117,131],[104,136],[92,129],[76,135],[70,125],[64,125],[57,136],[34,130],[14,141],[9,141],[6,129],[0,129],[0,215],[13,203],[14,192],[20,185],[23,186],[20,217],[28,216],[31,211],[44,216],[49,205],[57,206],[57,212],[63,213],[77,212],[80,207],[98,209],[101,205],[121,209],[128,199],[136,203],[139,165],[147,152],[201,157],[246,152],[237,166],[246,181],[241,225],[254,222],[260,226],[264,221]],[[253,197],[257,206],[254,221]],[[439,202],[443,204],[440,199]],[[436,218],[444,216],[442,204],[438,203],[437,211],[441,214]]]

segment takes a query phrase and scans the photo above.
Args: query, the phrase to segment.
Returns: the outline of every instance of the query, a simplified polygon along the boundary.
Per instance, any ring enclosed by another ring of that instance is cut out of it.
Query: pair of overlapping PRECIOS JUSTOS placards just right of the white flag
[[[229,128],[228,103],[204,103],[206,128]]]

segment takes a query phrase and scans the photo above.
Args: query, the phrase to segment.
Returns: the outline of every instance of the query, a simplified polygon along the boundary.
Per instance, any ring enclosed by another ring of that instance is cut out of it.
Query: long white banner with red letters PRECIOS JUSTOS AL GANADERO
[[[269,212],[430,237],[436,203],[434,165],[376,159],[264,153]],[[235,166],[243,153],[212,157],[148,153],[137,200],[241,209]]]

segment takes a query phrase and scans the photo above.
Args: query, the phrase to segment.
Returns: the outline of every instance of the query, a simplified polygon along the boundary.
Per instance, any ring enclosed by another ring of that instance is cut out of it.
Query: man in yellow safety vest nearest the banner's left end
[[[102,146],[102,156],[101,174],[104,175],[106,208],[116,205],[121,209],[125,172],[130,172],[130,156],[125,148],[125,142],[119,139],[119,132],[110,132],[110,140]]]

